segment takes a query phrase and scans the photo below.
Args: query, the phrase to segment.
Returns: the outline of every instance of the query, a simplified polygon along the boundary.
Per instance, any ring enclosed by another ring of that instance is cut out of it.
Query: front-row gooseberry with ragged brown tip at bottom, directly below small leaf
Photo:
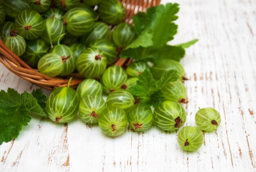
[[[132,131],[146,131],[153,123],[153,113],[149,106],[134,105],[127,112],[128,122]]]

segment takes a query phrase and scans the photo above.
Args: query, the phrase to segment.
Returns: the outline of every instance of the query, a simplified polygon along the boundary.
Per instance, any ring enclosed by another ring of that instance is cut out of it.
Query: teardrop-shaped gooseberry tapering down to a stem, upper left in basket
[[[48,44],[56,44],[58,39],[65,33],[65,27],[61,20],[49,17],[45,20],[45,30],[41,35],[41,39]],[[63,37],[61,37],[62,39]],[[53,46],[52,46],[53,47]]]

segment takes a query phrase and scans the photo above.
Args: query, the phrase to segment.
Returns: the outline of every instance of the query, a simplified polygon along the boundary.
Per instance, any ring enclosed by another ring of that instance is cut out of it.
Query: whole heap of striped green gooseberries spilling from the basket
[[[83,80],[76,91],[59,87],[46,102],[50,120],[67,123],[79,113],[88,124],[99,123],[110,137],[147,131],[153,123],[164,131],[176,131],[186,122],[182,105],[187,103],[182,81],[183,66],[173,60],[132,61],[128,67],[113,65],[118,53],[137,37],[134,26],[124,22],[126,11],[119,0],[11,0],[0,1],[0,37],[25,63],[47,76],[68,76],[77,71]],[[177,70],[178,80],[162,88],[165,100],[152,110],[139,102],[130,88],[149,69],[158,80]],[[70,83],[70,82],[69,82]],[[102,95],[108,95],[105,100]],[[218,111],[200,109],[198,127],[186,126],[178,134],[184,150],[202,145],[202,131],[220,125]],[[202,130],[202,131],[201,131]]]

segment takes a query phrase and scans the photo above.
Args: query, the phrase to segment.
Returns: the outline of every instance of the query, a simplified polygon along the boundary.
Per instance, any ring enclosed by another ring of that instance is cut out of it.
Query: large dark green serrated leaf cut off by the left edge
[[[0,144],[18,137],[23,125],[31,120],[30,111],[22,100],[14,89],[0,91]]]

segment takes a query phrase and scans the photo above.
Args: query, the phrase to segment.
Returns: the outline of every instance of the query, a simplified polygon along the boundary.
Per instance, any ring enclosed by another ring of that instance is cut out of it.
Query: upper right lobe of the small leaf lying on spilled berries
[[[168,70],[164,72],[162,77],[157,81],[157,88],[162,88],[169,82],[177,81],[177,70]]]

